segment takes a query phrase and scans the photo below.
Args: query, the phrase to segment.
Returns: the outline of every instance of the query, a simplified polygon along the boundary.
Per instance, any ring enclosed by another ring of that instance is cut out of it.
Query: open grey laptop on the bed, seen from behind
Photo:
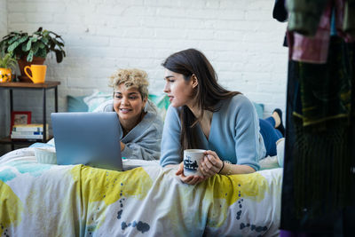
[[[51,113],[58,164],[122,171],[122,129],[115,112]]]

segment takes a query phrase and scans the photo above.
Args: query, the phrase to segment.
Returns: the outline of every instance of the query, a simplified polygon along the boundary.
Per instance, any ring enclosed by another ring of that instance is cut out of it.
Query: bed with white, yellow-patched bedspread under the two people
[[[282,169],[188,186],[151,162],[126,171],[0,157],[2,236],[277,236]],[[134,162],[134,161],[133,161]]]

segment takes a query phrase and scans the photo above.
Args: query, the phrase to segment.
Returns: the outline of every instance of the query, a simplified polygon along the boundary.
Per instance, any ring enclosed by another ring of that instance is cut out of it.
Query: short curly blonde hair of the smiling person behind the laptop
[[[137,88],[142,99],[148,98],[148,75],[146,71],[137,68],[118,69],[110,76],[109,86],[114,89],[124,83],[127,89]]]

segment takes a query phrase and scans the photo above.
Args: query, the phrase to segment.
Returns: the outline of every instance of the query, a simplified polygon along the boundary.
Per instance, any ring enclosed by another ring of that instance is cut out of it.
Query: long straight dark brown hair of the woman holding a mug
[[[197,137],[196,124],[201,121],[204,110],[215,112],[219,110],[217,103],[222,99],[232,98],[240,94],[238,91],[228,91],[217,83],[215,69],[201,51],[188,49],[177,51],[171,54],[162,63],[162,67],[172,72],[184,75],[185,81],[196,76],[198,85],[194,90],[193,99],[196,99],[197,106],[201,109],[199,117],[195,117],[193,112],[183,106],[180,114],[181,120],[181,152],[189,148],[201,148]]]

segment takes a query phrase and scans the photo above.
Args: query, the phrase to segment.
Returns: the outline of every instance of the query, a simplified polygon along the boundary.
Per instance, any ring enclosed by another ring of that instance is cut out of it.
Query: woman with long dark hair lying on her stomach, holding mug
[[[260,130],[253,104],[241,92],[217,83],[217,74],[201,51],[178,51],[162,66],[164,92],[171,103],[162,133],[162,166],[180,163],[177,175],[193,185],[217,173],[255,172],[261,158],[276,154],[283,128],[279,109],[260,121]],[[207,150],[200,166],[203,178],[184,175],[183,151],[191,148]]]

